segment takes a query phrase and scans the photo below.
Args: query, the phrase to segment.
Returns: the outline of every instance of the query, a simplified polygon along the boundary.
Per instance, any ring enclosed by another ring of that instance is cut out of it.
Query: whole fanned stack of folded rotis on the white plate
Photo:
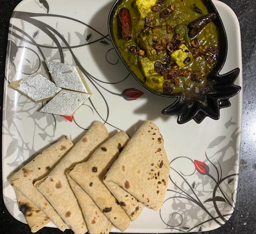
[[[61,231],[108,234],[112,227],[125,231],[144,206],[159,210],[168,175],[163,139],[152,121],[131,139],[124,131],[109,138],[95,121],[74,146],[62,138],[9,181],[32,232],[52,221]]]

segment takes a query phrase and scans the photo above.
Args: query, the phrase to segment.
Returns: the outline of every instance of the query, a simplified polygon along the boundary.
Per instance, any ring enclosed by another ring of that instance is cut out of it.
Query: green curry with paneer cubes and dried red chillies
[[[113,21],[116,46],[134,75],[161,94],[198,99],[218,57],[216,14],[202,0],[123,0]]]

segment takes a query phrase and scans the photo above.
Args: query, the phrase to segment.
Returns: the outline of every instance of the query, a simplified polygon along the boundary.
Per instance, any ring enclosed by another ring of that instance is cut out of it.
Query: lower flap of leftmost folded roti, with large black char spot
[[[13,187],[13,189],[15,191],[19,211],[23,213],[31,232],[36,233],[48,224],[50,219],[34,203],[15,189],[15,187]]]

